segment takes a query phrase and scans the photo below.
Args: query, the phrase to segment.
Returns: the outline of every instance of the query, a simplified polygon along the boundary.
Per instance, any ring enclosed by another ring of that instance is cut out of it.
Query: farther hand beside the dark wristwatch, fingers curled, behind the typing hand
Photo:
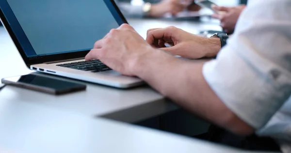
[[[200,37],[176,27],[150,29],[146,41],[153,47],[189,59],[214,57],[221,49],[219,38]],[[165,43],[171,47],[166,47]]]

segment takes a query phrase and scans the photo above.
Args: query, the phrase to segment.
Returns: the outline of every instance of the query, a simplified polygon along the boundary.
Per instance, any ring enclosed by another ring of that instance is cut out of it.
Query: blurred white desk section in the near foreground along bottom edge
[[[0,103],[0,153],[251,153],[32,103]]]

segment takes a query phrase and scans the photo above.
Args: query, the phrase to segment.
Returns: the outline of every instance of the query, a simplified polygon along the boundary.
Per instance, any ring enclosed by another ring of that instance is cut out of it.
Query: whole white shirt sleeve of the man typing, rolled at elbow
[[[239,118],[263,127],[291,95],[291,0],[250,0],[203,75]]]

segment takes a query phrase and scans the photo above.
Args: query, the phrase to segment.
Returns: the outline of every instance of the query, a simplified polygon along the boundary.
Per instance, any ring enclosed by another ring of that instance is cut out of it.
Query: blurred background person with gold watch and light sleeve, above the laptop
[[[133,0],[134,1],[134,0]],[[132,0],[115,0],[121,12],[127,17],[162,17],[166,14],[177,15],[188,9],[199,11],[200,6],[194,0],[137,0],[133,5]]]

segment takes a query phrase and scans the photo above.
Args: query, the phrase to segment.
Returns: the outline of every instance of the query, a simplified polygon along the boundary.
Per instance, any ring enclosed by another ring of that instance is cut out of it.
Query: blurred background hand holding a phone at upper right
[[[246,5],[239,5],[235,7],[212,5],[211,7],[213,10],[215,10],[215,13],[212,15],[212,17],[219,19],[223,30],[227,34],[231,34],[233,33],[236,23]]]

